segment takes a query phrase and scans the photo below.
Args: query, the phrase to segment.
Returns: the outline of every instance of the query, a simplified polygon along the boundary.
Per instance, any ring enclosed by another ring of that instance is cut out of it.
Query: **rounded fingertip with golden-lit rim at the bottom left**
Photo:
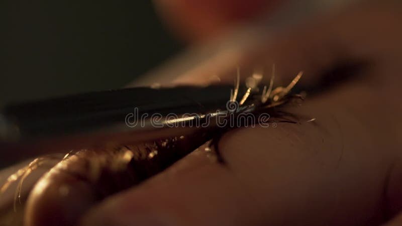
[[[57,176],[60,175],[48,173],[35,185],[27,201],[24,225],[73,225],[95,202],[87,183],[70,175],[58,181]]]

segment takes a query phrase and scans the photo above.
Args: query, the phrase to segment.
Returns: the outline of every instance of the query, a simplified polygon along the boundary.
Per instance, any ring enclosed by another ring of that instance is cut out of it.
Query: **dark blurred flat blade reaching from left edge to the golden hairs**
[[[229,85],[128,88],[14,104],[3,111],[0,135],[14,141],[103,130],[124,124],[135,107],[140,115],[208,112],[225,106],[228,90]]]

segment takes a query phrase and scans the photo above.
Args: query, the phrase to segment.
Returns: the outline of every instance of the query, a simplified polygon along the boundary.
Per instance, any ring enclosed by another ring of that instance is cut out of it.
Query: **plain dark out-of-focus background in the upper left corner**
[[[0,0],[0,106],[122,87],[180,49],[148,0]]]

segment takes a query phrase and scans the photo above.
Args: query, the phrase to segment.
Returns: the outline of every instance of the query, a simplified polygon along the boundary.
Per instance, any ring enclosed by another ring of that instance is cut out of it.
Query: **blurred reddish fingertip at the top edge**
[[[185,40],[216,37],[234,24],[257,17],[278,0],[154,1],[166,23]]]

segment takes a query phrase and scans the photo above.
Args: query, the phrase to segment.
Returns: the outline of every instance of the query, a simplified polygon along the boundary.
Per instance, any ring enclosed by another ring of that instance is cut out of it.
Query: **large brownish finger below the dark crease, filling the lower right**
[[[226,165],[183,159],[184,170],[173,166],[106,199],[83,225],[379,223],[396,152],[370,120],[381,110],[367,115],[365,99],[378,98],[367,84],[350,84],[297,108],[316,123],[232,131],[219,144]]]

